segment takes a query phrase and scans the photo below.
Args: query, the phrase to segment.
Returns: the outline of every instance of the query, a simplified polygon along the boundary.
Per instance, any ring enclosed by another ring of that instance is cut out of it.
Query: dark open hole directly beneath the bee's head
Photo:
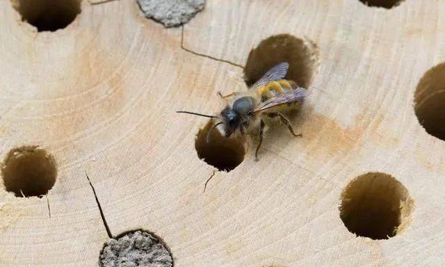
[[[198,131],[195,140],[197,156],[218,170],[229,172],[244,160],[245,139],[225,138],[215,129],[211,132],[209,143],[207,143],[207,133],[213,125],[213,122],[209,121]]]

